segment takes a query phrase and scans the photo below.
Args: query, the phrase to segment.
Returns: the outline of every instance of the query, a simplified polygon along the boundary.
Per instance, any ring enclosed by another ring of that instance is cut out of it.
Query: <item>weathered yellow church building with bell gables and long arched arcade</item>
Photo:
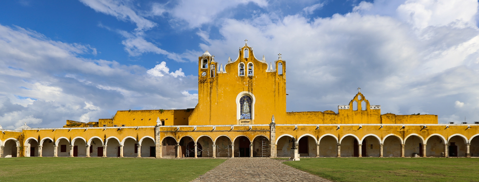
[[[239,48],[223,66],[198,58],[198,104],[117,111],[63,128],[1,129],[0,157],[479,157],[479,123],[381,114],[358,93],[337,112],[286,112],[286,62]]]

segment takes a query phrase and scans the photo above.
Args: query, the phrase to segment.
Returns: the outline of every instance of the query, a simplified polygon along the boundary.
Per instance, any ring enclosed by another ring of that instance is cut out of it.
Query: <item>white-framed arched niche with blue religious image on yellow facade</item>
[[[254,119],[255,100],[251,92],[240,92],[236,96],[236,119]]]

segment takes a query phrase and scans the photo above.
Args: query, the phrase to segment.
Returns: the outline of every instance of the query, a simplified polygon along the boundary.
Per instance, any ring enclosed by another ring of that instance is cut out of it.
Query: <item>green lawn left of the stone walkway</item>
[[[0,158],[0,182],[189,182],[224,159]]]

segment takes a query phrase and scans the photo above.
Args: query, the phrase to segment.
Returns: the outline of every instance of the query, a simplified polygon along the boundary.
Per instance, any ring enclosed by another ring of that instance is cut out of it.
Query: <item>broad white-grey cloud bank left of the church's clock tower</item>
[[[61,127],[66,119],[98,121],[115,110],[187,108],[197,102],[182,94],[196,89],[196,77],[181,69],[152,77],[142,66],[82,54],[94,51],[89,45],[0,25],[1,126]]]

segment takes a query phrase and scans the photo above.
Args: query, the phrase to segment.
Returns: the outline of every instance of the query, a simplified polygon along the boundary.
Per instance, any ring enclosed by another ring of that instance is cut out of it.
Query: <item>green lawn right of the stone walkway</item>
[[[335,182],[479,182],[479,158],[301,158],[284,163]]]

